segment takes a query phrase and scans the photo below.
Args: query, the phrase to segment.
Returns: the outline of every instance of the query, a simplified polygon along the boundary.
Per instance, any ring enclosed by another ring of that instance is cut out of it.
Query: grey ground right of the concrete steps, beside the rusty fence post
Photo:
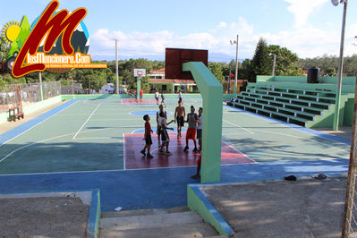
[[[304,178],[203,191],[234,237],[341,237],[346,183],[346,177]]]

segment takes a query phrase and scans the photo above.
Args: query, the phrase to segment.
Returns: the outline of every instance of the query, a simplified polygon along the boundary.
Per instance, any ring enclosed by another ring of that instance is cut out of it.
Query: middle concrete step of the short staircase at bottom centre
[[[184,226],[202,222],[200,215],[194,211],[168,213],[160,215],[106,217],[101,218],[99,227],[104,230],[123,231],[132,229],[159,228],[166,226]]]

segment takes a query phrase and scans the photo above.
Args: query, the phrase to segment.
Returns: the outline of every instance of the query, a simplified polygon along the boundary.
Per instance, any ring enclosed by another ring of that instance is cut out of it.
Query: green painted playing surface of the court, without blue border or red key
[[[202,100],[188,98],[189,95],[186,97],[183,105],[186,114],[191,105],[197,108],[197,112]],[[142,133],[142,115],[148,113],[153,131],[156,132],[155,112],[158,107],[152,101],[128,104],[122,100],[76,100],[42,123],[7,140],[0,146],[0,174],[125,169],[124,134]],[[168,121],[171,121],[174,119],[177,99],[166,99],[166,104]],[[252,115],[231,106],[224,106],[222,132],[222,140],[226,144],[257,163],[349,157],[350,146],[343,142],[329,140],[309,129]],[[177,139],[171,137],[171,140],[174,144]],[[184,147],[184,140],[182,144]],[[132,145],[138,151],[143,146],[143,140]],[[153,155],[153,160],[158,159],[158,155]],[[190,152],[186,159],[195,160],[196,157]]]

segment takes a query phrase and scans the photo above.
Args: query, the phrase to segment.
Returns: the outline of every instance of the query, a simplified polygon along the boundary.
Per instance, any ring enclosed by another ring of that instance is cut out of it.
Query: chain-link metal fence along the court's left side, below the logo
[[[0,113],[6,113],[9,108],[16,106],[19,94],[16,94],[16,87],[21,86],[22,106],[53,98],[61,95],[61,82],[49,81],[42,83],[42,90],[39,83],[11,84],[0,89]],[[42,92],[42,93],[41,93]]]

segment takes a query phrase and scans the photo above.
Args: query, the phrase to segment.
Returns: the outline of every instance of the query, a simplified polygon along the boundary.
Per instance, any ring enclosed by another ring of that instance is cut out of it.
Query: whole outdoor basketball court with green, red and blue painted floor
[[[191,105],[198,112],[201,99],[188,97],[186,114]],[[168,121],[176,105],[176,98],[166,99]],[[156,134],[154,158],[140,154],[142,116],[150,116],[156,132],[157,110],[152,99],[72,100],[0,135],[0,183],[7,184],[0,193],[99,188],[103,210],[123,203],[127,209],[183,206],[186,184],[197,183],[190,175],[200,154],[192,151],[192,141],[184,152],[184,133],[177,140],[175,131],[169,134],[173,155],[158,153]],[[222,132],[222,182],[341,174],[348,168],[349,141],[297,125],[224,106]]]

